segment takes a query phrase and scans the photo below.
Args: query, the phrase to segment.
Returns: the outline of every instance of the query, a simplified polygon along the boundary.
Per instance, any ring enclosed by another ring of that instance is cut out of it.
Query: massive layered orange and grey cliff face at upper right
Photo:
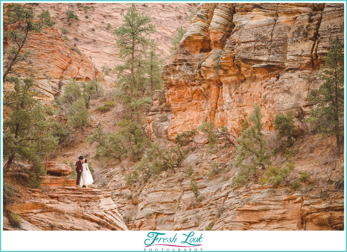
[[[319,87],[315,71],[335,36],[344,39],[340,3],[204,3],[162,71],[174,115],[169,137],[205,121],[238,132],[257,102],[264,129],[290,110],[304,118]],[[300,126],[299,120],[296,121]]]

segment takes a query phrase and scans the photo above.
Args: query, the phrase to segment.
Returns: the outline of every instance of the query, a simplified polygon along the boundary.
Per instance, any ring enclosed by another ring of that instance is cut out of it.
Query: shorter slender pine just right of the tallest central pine
[[[148,86],[150,87],[151,97],[156,89],[162,89],[163,79],[160,77],[162,61],[159,59],[160,53],[158,51],[158,45],[154,39],[149,44],[149,52],[146,61],[146,75],[148,76]]]

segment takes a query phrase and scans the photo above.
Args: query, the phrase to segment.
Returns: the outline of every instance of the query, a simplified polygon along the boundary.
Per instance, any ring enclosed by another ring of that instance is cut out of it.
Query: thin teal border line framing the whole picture
[[[109,2],[109,3],[117,3],[117,2],[123,2],[123,3],[131,3],[131,2],[144,2],[144,3],[150,3],[150,2],[163,2],[163,3],[165,3],[165,2],[167,2],[167,3],[188,3],[188,2],[195,2],[195,3],[200,3],[200,2],[206,2],[206,3],[208,3],[208,2],[235,2],[235,3],[248,3],[248,2],[261,2],[261,3],[273,3],[273,2],[282,2],[282,3],[305,3],[305,2],[330,2],[330,1],[324,1],[324,0],[316,0],[316,1],[307,1],[307,0],[302,0],[302,1],[298,1],[298,0],[295,0],[295,1],[276,1],[276,0],[265,0],[265,1],[262,1],[262,0],[252,0],[252,1],[227,1],[227,0],[220,0],[220,1],[185,1],[185,0],[176,0],[176,1],[161,1],[161,0],[149,0],[149,1],[141,1],[141,0],[132,0],[132,1],[121,1],[121,0],[115,0],[115,1],[112,1],[112,0],[94,0],[94,1],[59,1],[59,0],[51,0],[51,1],[35,1],[35,0],[27,0],[27,1],[21,1],[21,0],[12,0],[12,1],[3,1],[3,0],[0,0],[0,2],[1,2],[1,5],[2,5],[2,3],[9,3],[9,2],[38,2],[38,3],[45,3],[45,2],[59,2],[59,3],[69,3],[69,2],[74,2],[74,3],[78,3],[78,2],[81,2],[81,3],[87,3],[87,2]],[[347,22],[347,11],[346,11],[346,7],[347,7],[347,0],[346,1],[331,1],[331,2],[336,2],[336,3],[346,3],[346,6],[345,6],[345,26],[346,26],[346,22]],[[0,27],[0,32],[1,32],[1,34],[2,34],[2,25],[1,25],[1,27]],[[344,27],[344,53],[345,53],[345,63],[346,63],[346,28]],[[0,52],[1,52],[1,55],[2,55],[2,47],[0,48]],[[1,64],[2,64],[2,59],[3,58],[1,58]],[[345,71],[346,71],[346,64],[345,64]],[[347,83],[347,77],[346,77],[346,75],[345,75],[345,108],[346,108],[346,83]],[[2,82],[2,78],[1,78],[1,89],[2,89],[2,87],[3,87],[3,82]],[[2,98],[2,95],[1,95],[1,104],[0,104],[0,109],[1,109],[1,111],[2,111],[2,102],[3,102],[3,98]],[[345,143],[344,143],[344,149],[345,149],[345,152],[344,152],[344,156],[345,156],[345,167],[346,167],[346,164],[347,164],[347,160],[346,160],[346,142],[347,142],[347,134],[346,134],[346,116],[347,116],[347,111],[346,111],[346,109],[345,109]],[[3,118],[1,117],[1,129],[2,129],[2,127],[3,127]],[[1,141],[0,141],[0,148],[2,148],[2,136],[1,136]],[[2,153],[1,153],[1,165],[2,165],[2,162],[3,162],[3,157],[2,157]],[[1,191],[2,191],[2,181],[3,181],[3,175],[2,175],[2,173],[1,173],[1,175],[0,175],[0,177],[1,177]],[[345,169],[345,180],[346,180],[346,169]],[[344,194],[344,202],[345,202],[345,207],[346,207],[346,192],[345,192],[345,194]],[[0,199],[1,199],[1,202],[2,202],[2,193],[1,193],[1,196],[0,196]],[[345,210],[346,210],[346,208],[345,208]],[[0,211],[2,211],[2,204],[0,205]],[[345,216],[346,217],[346,216]],[[2,219],[1,219],[1,223],[2,223]],[[346,226],[346,224],[345,224],[345,226]],[[150,230],[149,230],[150,231]],[[3,232],[3,230],[0,230],[0,232]],[[7,231],[5,231],[5,232],[7,232]],[[126,232],[126,231],[122,231],[122,232]],[[201,231],[201,232],[203,232],[203,230]],[[345,231],[342,231],[342,232],[346,232],[346,230]],[[25,233],[24,233],[25,234]],[[37,233],[37,234],[40,234],[40,233]],[[112,233],[112,234],[116,234],[116,233]],[[285,235],[286,233],[285,232],[283,232],[283,235]],[[107,238],[109,238],[109,237],[105,237],[106,238],[106,240],[107,240]],[[37,240],[37,241],[39,241],[39,239]],[[19,237],[19,239],[18,239],[18,242],[20,242],[20,237]],[[289,241],[287,241],[287,242],[289,242]],[[319,241],[311,241],[311,242],[319,242]],[[335,242],[335,241],[330,241],[330,242]],[[52,244],[53,246],[54,246],[54,244]],[[1,240],[0,240],[0,246],[1,246]],[[345,246],[346,246],[346,243],[345,243]],[[0,247],[0,251],[3,251],[3,250],[1,250],[1,247]],[[39,250],[39,251],[56,251],[56,252],[60,252],[60,250]],[[88,250],[87,250],[88,251]],[[112,250],[101,250],[100,252],[109,252],[109,251],[112,251]],[[115,250],[115,251],[117,251],[117,250]],[[143,251],[143,250],[133,250],[133,251],[129,251],[129,252],[137,252],[137,251]],[[152,250],[153,251],[153,250]],[[159,250],[158,250],[159,251]],[[266,250],[254,250],[254,251],[259,251],[259,252],[264,252],[264,251],[266,251]],[[237,251],[237,250],[233,250],[233,252],[254,252],[253,250],[248,250],[248,251]],[[293,252],[298,252],[298,251],[300,251],[300,250],[271,250],[271,252],[272,251],[286,251],[286,252],[291,252],[291,251],[293,251]],[[307,251],[307,250],[305,250],[305,251]],[[308,250],[308,252],[310,252],[310,251],[314,251],[314,250]],[[329,250],[330,251],[330,250]],[[23,252],[23,251],[11,251],[11,252]],[[29,251],[28,251],[29,252]],[[68,252],[68,250],[64,250],[64,251],[61,251],[61,252]],[[83,250],[83,251],[81,251],[81,252],[86,252],[86,250]],[[208,252],[208,251],[204,251],[204,252]],[[218,251],[217,251],[218,252]],[[221,251],[222,252],[222,251]],[[331,252],[335,252],[335,251],[331,251]]]

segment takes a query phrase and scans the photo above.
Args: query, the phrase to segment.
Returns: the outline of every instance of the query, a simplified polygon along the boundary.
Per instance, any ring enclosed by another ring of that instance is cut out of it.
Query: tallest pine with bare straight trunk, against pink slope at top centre
[[[134,3],[123,17],[123,25],[112,31],[117,35],[119,58],[123,60],[123,64],[117,65],[115,70],[118,72],[118,84],[133,97],[135,76],[142,71],[142,60],[149,44],[146,36],[155,31],[155,25],[144,12],[136,11]]]

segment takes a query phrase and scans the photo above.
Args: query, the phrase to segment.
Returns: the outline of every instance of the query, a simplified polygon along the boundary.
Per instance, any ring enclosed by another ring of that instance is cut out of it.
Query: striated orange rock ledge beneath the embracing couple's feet
[[[33,190],[9,209],[22,218],[22,230],[127,230],[111,195],[102,190],[57,187],[46,195]],[[16,230],[6,216],[3,230]]]

